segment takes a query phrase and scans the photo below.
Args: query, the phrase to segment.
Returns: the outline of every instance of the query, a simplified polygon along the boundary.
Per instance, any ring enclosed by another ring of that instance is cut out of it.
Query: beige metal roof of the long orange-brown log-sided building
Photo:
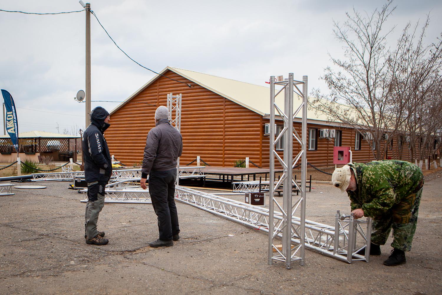
[[[223,96],[229,100],[232,100],[243,107],[247,107],[251,111],[255,111],[256,113],[265,116],[266,114],[270,114],[270,87],[255,85],[246,82],[241,82],[237,80],[217,77],[209,74],[198,73],[186,69],[178,69],[172,67],[166,67],[160,73],[164,74],[167,70],[171,70],[192,82],[201,85],[204,88],[207,88],[220,96]],[[124,105],[127,101],[131,100],[134,96],[140,93],[143,89],[148,87],[152,82],[154,82],[160,75],[156,75],[153,77],[148,83],[143,85],[140,89],[134,92],[125,102],[121,103],[114,110],[110,112],[113,114],[117,111],[122,105]],[[296,79],[295,79],[296,80]],[[263,82],[264,83],[264,82]],[[302,90],[302,89],[301,89]],[[276,90],[278,92],[278,90]],[[294,97],[294,109],[297,109],[297,105],[301,103],[301,98],[296,94]],[[284,94],[281,92],[276,97],[276,103],[280,108],[284,107]],[[299,114],[300,117],[301,114]],[[314,111],[308,111],[307,117],[311,120],[319,120],[319,121],[327,121],[325,115],[317,115]]]

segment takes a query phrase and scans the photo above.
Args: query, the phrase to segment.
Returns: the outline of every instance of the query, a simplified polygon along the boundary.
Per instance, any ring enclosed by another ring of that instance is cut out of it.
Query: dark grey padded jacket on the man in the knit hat
[[[147,178],[151,170],[167,171],[176,168],[176,161],[183,152],[183,138],[168,119],[161,119],[146,139],[141,178]]]

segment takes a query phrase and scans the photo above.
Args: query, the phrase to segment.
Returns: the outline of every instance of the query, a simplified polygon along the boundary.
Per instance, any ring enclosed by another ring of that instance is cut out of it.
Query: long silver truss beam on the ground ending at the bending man
[[[228,218],[229,220],[239,222],[246,226],[250,226],[257,230],[262,230],[269,233],[270,212],[267,208],[256,207],[247,203],[242,203],[232,199],[227,199],[218,195],[200,192],[191,188],[184,188],[177,186],[175,188],[176,200],[182,203],[189,204],[204,211],[213,213],[218,216]],[[298,202],[299,206],[300,202]],[[339,215],[338,220],[342,218]],[[273,212],[274,226],[281,228],[285,224],[285,216],[281,212]],[[364,233],[362,225],[367,224],[367,231]],[[344,219],[339,220],[335,227],[328,226],[319,222],[305,220],[305,236],[301,239],[301,218],[292,216],[291,229],[293,236],[290,238],[291,242],[297,244],[294,247],[295,251],[301,248],[301,240],[305,240],[305,247],[316,252],[322,253],[329,257],[341,261],[351,263],[355,260],[368,261],[368,255],[362,256],[356,254],[360,249],[367,247],[370,250],[371,237],[371,219],[368,221]],[[363,245],[356,248],[357,234],[362,237]],[[275,233],[275,237],[282,238],[283,232]],[[347,249],[350,246],[350,251]],[[276,247],[275,252],[281,252]],[[296,252],[295,252],[296,253]],[[367,252],[369,253],[369,252]],[[280,253],[282,255],[282,253]],[[279,261],[284,261],[280,259]]]

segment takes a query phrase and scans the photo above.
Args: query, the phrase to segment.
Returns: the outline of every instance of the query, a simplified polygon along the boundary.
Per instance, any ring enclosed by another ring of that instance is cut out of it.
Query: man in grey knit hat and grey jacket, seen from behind
[[[141,188],[146,189],[149,174],[149,194],[158,216],[160,238],[151,247],[173,246],[179,240],[178,212],[175,206],[177,158],[183,152],[183,138],[169,123],[169,111],[160,106],[155,111],[155,127],[147,136],[141,169]]]

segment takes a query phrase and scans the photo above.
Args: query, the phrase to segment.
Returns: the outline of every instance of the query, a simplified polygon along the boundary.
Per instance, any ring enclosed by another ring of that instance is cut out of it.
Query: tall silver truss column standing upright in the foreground
[[[282,89],[275,94],[275,84],[281,85]],[[297,85],[302,84],[302,92]],[[296,90],[295,90],[296,88]],[[284,111],[275,103],[275,98],[279,93],[284,91]],[[293,112],[293,93],[302,97],[302,103],[297,110]],[[305,248],[305,188],[306,188],[306,130],[307,130],[307,76],[303,77],[303,81],[293,80],[293,73],[289,73],[287,80],[275,82],[274,76],[270,77],[270,183],[269,183],[269,253],[268,263],[273,261],[283,261],[286,263],[286,268],[291,268],[293,261],[299,260],[300,265],[304,265],[304,248]],[[302,138],[295,129],[293,129],[293,119],[302,109]],[[275,130],[275,110],[284,122],[284,128],[274,138]],[[301,146],[301,151],[293,158],[293,138]],[[280,157],[275,151],[275,142],[280,139],[283,141],[284,153]],[[274,158],[278,159],[282,165],[282,177],[274,184]],[[301,160],[301,187],[293,178],[293,167]],[[275,188],[283,186],[282,189],[282,204],[274,198]],[[298,196],[296,202],[293,204],[292,188],[295,186],[301,195]],[[282,213],[282,222],[274,221],[274,205],[278,211]],[[301,215],[300,227],[293,226],[292,218],[296,211]],[[275,227],[275,224],[278,226]],[[274,240],[282,236],[282,248],[275,245]],[[294,236],[300,237],[298,245],[292,245],[292,238]]]

